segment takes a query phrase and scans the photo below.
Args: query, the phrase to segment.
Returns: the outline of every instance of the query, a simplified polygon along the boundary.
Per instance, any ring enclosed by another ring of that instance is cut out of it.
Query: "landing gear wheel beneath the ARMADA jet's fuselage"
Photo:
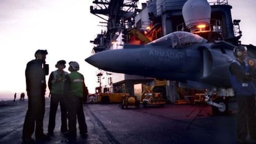
[[[213,102],[218,103],[222,106],[222,108],[218,108],[216,106],[212,106],[211,109],[213,114],[228,114],[228,102],[223,98],[216,98]]]

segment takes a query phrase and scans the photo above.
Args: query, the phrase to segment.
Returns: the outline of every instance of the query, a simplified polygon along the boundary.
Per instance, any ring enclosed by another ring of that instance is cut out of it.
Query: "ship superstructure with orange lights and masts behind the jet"
[[[133,2],[137,4],[138,1]],[[100,40],[105,41],[105,43],[103,45],[100,43],[93,48],[95,53],[99,52],[99,48],[100,51],[104,51],[121,48],[124,44],[147,44],[150,41],[176,31],[196,33],[208,41],[224,40],[234,45],[241,44],[241,41],[239,41],[242,36],[239,28],[240,20],[232,20],[232,6],[228,4],[228,1],[150,0],[147,3],[143,3],[140,10],[136,9],[135,5],[133,6],[133,11],[127,11],[126,14],[123,14],[129,15],[129,17],[126,17],[126,19],[115,19],[118,28],[109,27],[109,25],[113,25],[113,23],[109,24],[109,22],[113,22],[113,17],[109,17],[112,20],[108,19],[107,32],[101,33],[101,36],[99,36],[102,39]],[[121,4],[117,4],[117,7],[121,8]],[[198,11],[195,11],[195,9]],[[199,17],[197,17],[198,15]],[[109,36],[108,33],[116,36]],[[97,38],[95,41],[98,40]],[[104,49],[101,48],[102,46],[104,46]],[[103,71],[100,73],[109,74]],[[100,81],[102,77],[100,77]],[[168,98],[169,101],[175,99],[174,95],[176,93],[179,93],[179,95],[184,93],[184,90],[176,90],[177,83],[171,80],[155,80],[155,78],[114,73],[111,73],[111,82],[100,84],[100,87],[111,88],[111,91],[118,92],[129,91],[133,95],[134,84],[155,85],[155,83],[159,82],[166,83],[164,92],[167,96],[170,96]],[[187,93],[187,90],[185,91]]]

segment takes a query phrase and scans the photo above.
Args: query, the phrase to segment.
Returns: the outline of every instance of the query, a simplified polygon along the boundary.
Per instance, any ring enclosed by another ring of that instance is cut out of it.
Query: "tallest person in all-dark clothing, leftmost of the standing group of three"
[[[49,66],[45,64],[46,50],[38,49],[36,59],[27,63],[25,70],[28,109],[23,125],[23,143],[33,143],[32,134],[35,129],[36,140],[49,140],[43,133],[43,117],[45,115],[45,75],[48,75]]]

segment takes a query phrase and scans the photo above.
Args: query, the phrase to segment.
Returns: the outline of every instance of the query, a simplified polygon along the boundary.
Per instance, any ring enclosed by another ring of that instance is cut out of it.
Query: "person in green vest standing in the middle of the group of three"
[[[48,135],[53,135],[53,130],[55,127],[55,118],[58,105],[61,107],[61,132],[67,132],[67,109],[65,106],[64,98],[64,80],[68,74],[63,69],[65,69],[66,61],[58,61],[55,65],[57,70],[54,70],[49,75],[48,87],[51,91],[51,103],[49,111],[49,124],[48,124]]]

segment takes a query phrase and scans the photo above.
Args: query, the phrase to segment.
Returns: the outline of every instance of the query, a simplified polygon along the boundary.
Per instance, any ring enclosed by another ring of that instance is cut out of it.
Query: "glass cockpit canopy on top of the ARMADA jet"
[[[196,43],[207,43],[207,40],[193,33],[179,31],[170,33],[148,44],[154,46],[168,46],[171,48],[184,48]]]

